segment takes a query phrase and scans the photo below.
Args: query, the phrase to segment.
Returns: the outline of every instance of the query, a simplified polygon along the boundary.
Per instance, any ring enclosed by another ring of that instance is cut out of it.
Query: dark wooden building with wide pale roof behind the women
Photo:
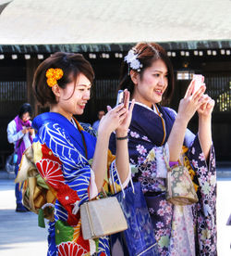
[[[109,5],[110,4],[110,5]],[[96,79],[80,121],[93,122],[99,109],[114,105],[119,69],[139,41],[163,45],[176,73],[171,106],[186,91],[193,73],[205,76],[216,101],[213,143],[217,160],[231,160],[231,1],[3,1],[0,0],[0,154],[12,147],[6,125],[18,107],[30,102],[44,111],[31,90],[36,67],[56,51],[79,52],[89,59]],[[197,116],[189,123],[196,132]]]

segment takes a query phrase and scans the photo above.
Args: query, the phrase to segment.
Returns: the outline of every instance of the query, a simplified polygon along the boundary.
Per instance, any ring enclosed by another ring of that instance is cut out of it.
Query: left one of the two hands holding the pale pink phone
[[[183,118],[185,122],[189,122],[189,120],[193,117],[195,112],[200,109],[203,102],[203,94],[205,92],[205,84],[202,83],[199,90],[194,91],[195,80],[192,80],[188,85],[188,89],[184,98],[180,100],[178,107],[178,118]]]

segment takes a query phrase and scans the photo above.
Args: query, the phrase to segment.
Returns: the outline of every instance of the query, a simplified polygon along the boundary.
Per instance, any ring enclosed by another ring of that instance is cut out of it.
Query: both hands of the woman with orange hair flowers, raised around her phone
[[[124,103],[119,104],[114,109],[107,106],[108,112],[103,116],[99,128],[98,134],[108,134],[116,130],[116,134],[126,134],[128,133],[128,127],[131,121],[132,109],[134,107],[134,101],[132,101],[130,107],[129,105],[129,92],[125,90]]]

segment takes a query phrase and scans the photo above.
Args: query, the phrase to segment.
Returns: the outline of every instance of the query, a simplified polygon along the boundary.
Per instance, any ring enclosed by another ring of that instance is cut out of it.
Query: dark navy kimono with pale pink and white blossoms
[[[189,173],[199,201],[193,205],[175,206],[165,199],[164,150],[168,152],[166,141],[175,118],[173,109],[158,106],[156,113],[135,104],[128,132],[130,162],[137,167],[132,174],[133,180],[141,183],[160,255],[217,255],[214,149],[211,148],[206,162],[198,135],[188,130],[182,156],[189,161]],[[112,152],[115,145],[113,134],[110,139]]]

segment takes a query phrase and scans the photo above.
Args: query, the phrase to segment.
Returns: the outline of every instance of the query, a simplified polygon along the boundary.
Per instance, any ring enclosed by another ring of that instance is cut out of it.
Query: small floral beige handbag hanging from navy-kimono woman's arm
[[[164,161],[167,167],[166,200],[176,205],[189,205],[198,201],[188,169],[184,165],[170,167],[164,152]]]

